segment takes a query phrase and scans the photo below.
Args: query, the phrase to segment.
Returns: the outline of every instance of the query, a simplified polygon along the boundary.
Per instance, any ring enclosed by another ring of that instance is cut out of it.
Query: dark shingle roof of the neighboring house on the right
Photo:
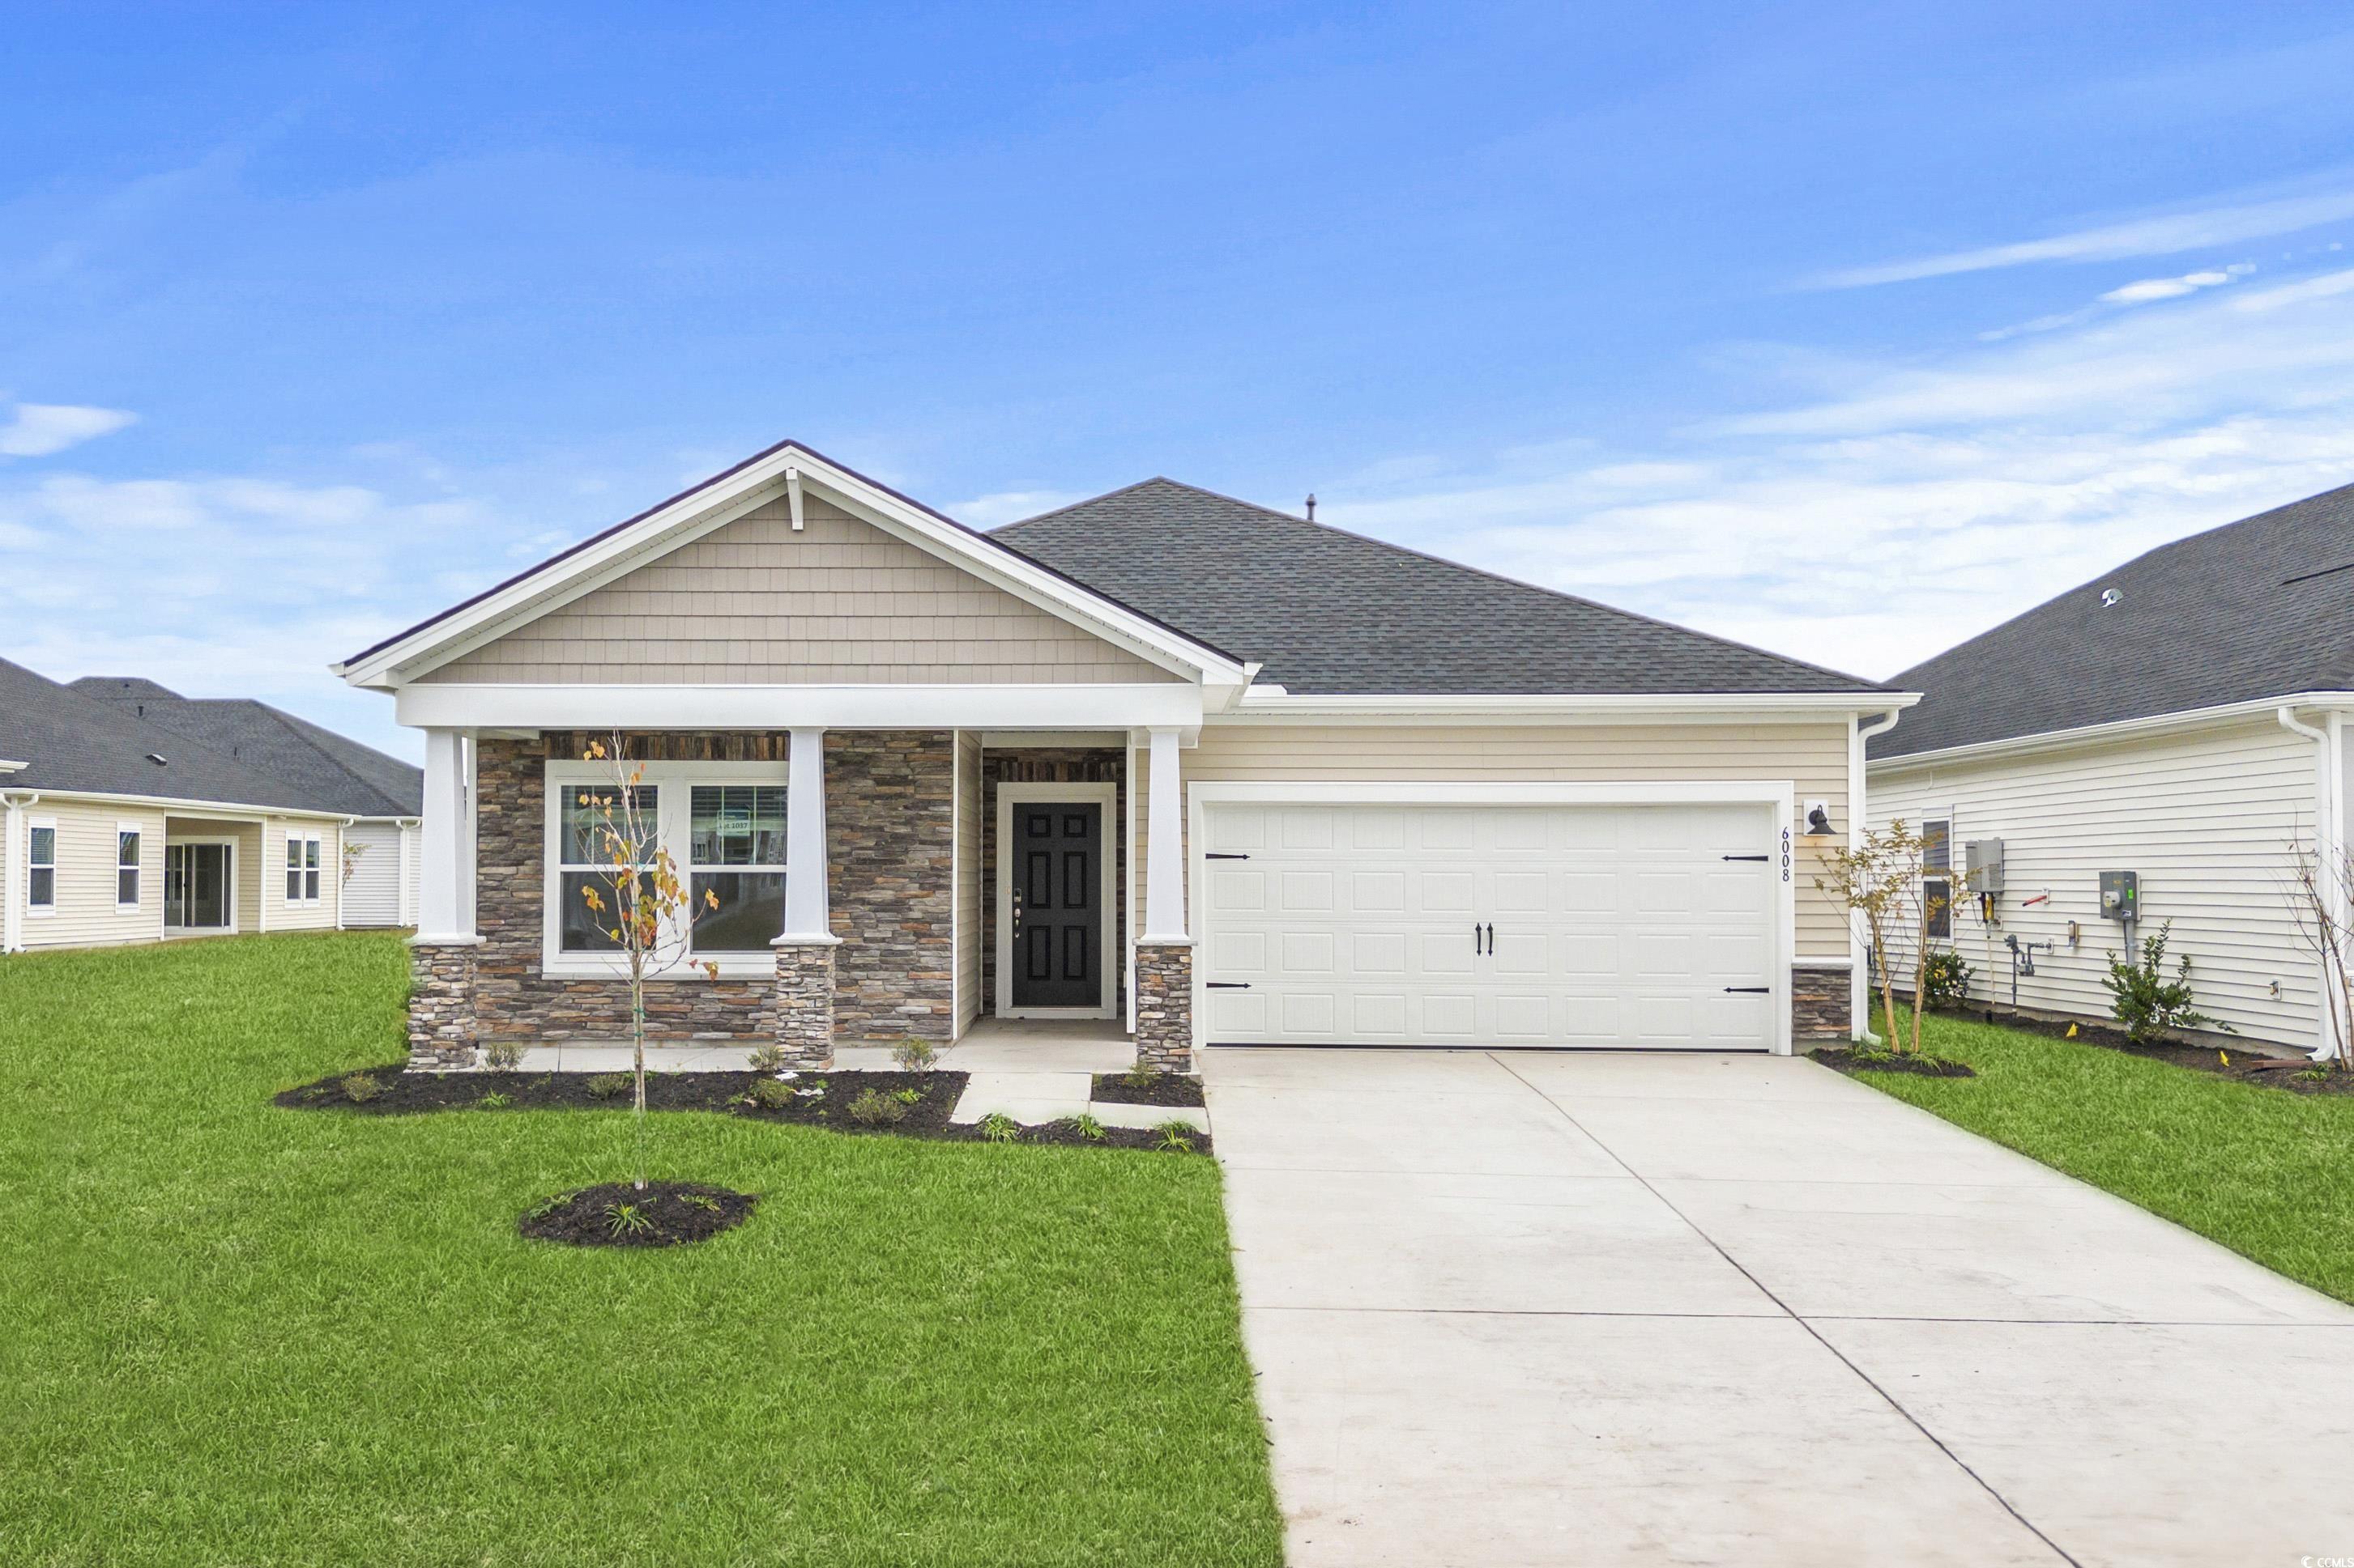
[[[2349,691],[2354,484],[2161,545],[1893,684],[1928,696],[1874,759]]]

